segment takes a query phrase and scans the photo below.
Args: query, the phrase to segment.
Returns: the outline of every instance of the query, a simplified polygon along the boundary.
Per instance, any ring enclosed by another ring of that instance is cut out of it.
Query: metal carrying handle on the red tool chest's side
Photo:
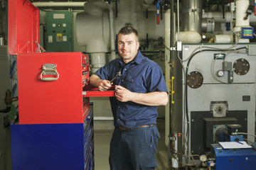
[[[43,68],[42,68],[43,72],[41,72],[41,75],[40,75],[41,80],[43,80],[43,81],[56,81],[56,80],[58,80],[60,75],[58,74],[56,67],[57,66],[55,64],[44,64]],[[43,77],[45,75],[53,75],[53,76],[57,75],[57,77]]]

